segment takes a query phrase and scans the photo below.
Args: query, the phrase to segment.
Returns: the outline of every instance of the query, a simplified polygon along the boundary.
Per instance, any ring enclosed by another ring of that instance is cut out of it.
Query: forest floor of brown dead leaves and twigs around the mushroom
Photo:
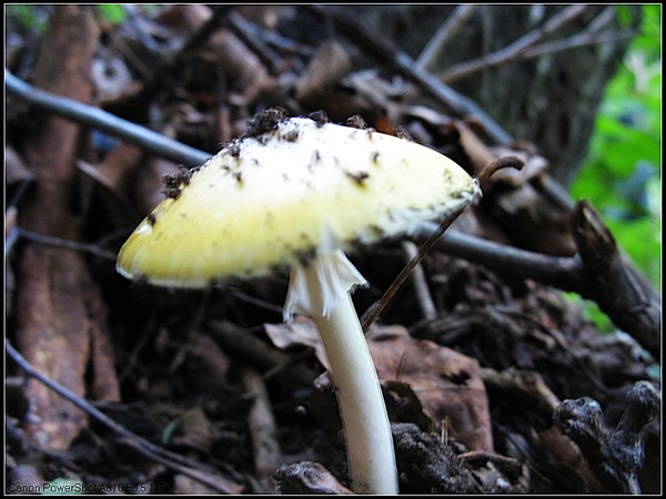
[[[360,71],[381,47],[349,19],[327,20],[345,43],[313,45],[278,32],[280,9],[91,12],[59,6],[37,38],[17,29],[8,70],[56,106],[69,96],[193,149],[93,132],[85,110],[64,119],[8,90],[7,493],[350,492],[316,328],[282,320],[289,275],[174,291],[114,271],[163,177],[274,106],[361,115],[473,176],[524,164],[484,180],[367,332],[401,493],[660,492],[660,297],[593,206],[553,194],[547,159],[494,143],[422,72],[387,70],[400,61]],[[360,316],[425,238],[350,255],[370,283]],[[597,330],[573,295],[617,329]]]

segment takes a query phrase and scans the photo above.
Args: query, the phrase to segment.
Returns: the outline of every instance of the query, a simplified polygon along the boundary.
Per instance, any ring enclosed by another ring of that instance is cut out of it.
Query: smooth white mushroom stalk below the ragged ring
[[[352,489],[357,493],[397,493],[391,424],[351,296],[314,320],[336,387]]]

